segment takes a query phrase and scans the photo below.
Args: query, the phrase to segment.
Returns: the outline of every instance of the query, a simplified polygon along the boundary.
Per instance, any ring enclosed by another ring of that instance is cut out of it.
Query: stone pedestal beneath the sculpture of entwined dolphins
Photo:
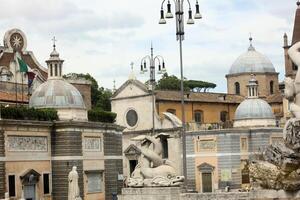
[[[123,188],[121,200],[180,200],[180,187]]]

